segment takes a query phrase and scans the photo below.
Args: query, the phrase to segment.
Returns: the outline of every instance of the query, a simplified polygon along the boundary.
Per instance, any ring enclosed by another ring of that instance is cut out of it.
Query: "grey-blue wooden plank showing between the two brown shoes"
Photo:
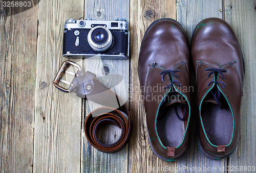
[[[188,42],[191,42],[191,36],[194,32],[197,24],[208,17],[222,18],[222,1],[177,1],[177,20],[184,28]],[[190,150],[186,157],[177,161],[178,167],[186,165],[190,168],[199,167],[201,170],[204,168],[210,168],[210,171],[205,172],[223,172],[220,168],[226,167],[226,159],[224,160],[211,160],[200,153],[197,145],[197,133],[195,129],[198,129],[199,116],[197,113],[197,89],[195,83],[195,74],[193,71],[193,65],[190,63],[191,84],[195,87],[194,93],[191,93],[191,121],[190,121]],[[194,102],[193,102],[194,101]],[[216,170],[215,170],[216,168]],[[179,171],[180,172],[180,171]],[[183,170],[181,172],[189,172]]]

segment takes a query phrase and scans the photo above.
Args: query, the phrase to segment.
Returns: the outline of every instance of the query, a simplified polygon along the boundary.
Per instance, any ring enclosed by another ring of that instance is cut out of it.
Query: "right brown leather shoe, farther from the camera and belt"
[[[223,159],[236,148],[244,62],[240,45],[228,23],[207,18],[196,27],[191,56],[197,77],[200,151]]]

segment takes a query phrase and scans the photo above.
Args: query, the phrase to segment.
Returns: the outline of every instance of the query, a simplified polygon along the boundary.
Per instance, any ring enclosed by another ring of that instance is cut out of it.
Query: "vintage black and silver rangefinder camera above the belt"
[[[115,21],[68,19],[64,26],[63,56],[67,58],[127,59],[130,33],[124,18]]]

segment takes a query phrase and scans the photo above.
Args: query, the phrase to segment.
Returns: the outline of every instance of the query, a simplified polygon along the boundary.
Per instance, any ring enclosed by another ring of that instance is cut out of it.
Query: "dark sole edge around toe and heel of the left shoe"
[[[158,23],[159,21],[164,21],[164,20],[170,20],[170,21],[174,21],[174,22],[178,23],[178,24],[180,25],[180,27],[182,28],[182,30],[183,30],[185,36],[186,36],[186,33],[185,33],[183,27],[181,26],[181,24],[180,24],[177,20],[172,19],[172,18],[160,18],[160,19],[157,19],[157,20],[155,20],[154,22],[152,22],[152,23],[150,24],[150,26],[147,28],[147,30],[146,30],[146,32],[145,32],[145,34],[144,34],[144,37],[143,37],[143,39],[142,39],[141,45],[140,45],[140,52],[141,52],[142,43],[143,43],[144,38],[146,37],[146,34],[148,33],[148,31],[151,29],[151,27],[154,26],[154,24]],[[139,55],[139,56],[140,56],[140,55]],[[148,135],[148,130],[147,130],[147,137],[148,137],[148,141],[150,142],[151,150],[153,151],[153,153],[154,153],[158,158],[160,158],[160,159],[162,159],[162,160],[165,160],[165,161],[171,161],[171,162],[173,162],[173,161],[176,161],[176,160],[178,160],[178,159],[184,157],[184,156],[187,154],[188,149],[189,149],[189,146],[190,146],[190,145],[188,145],[186,151],[185,151],[181,156],[179,156],[179,157],[177,157],[177,158],[175,158],[175,159],[168,159],[168,158],[165,158],[165,157],[163,157],[163,156],[160,156],[159,154],[157,154],[157,153],[153,150],[153,147],[152,147],[152,144],[151,144],[151,141],[150,141],[150,136]]]

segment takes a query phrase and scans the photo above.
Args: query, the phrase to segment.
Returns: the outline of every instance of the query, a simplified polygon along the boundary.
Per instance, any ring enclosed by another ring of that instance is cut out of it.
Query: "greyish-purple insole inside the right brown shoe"
[[[229,106],[221,109],[219,105],[205,102],[201,116],[208,139],[214,145],[228,145],[233,132],[233,117]]]

